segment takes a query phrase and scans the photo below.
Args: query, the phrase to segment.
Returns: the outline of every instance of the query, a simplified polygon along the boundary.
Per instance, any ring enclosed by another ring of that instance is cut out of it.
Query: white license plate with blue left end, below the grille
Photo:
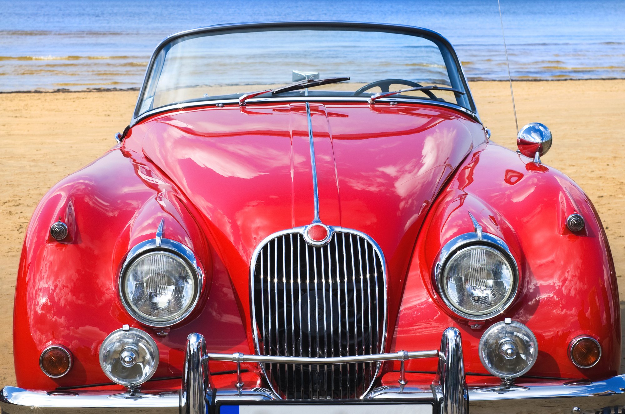
[[[221,405],[219,414],[433,414],[432,403]]]

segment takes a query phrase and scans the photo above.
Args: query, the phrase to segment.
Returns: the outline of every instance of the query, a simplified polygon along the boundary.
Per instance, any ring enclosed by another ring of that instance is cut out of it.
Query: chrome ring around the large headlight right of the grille
[[[499,255],[504,258],[512,269],[512,288],[507,296],[506,300],[504,300],[501,304],[492,308],[492,311],[488,313],[468,313],[464,310],[459,309],[453,301],[449,299],[446,294],[446,290],[444,289],[444,281],[442,280],[444,276],[445,266],[449,263],[451,258],[459,253],[464,248],[469,248],[472,246],[482,246],[484,248],[489,248],[495,250]],[[446,245],[444,245],[441,249],[441,253],[439,255],[439,259],[434,265],[434,281],[436,283],[436,288],[438,290],[439,295],[441,295],[442,301],[447,305],[447,308],[454,312],[456,315],[461,316],[467,320],[473,321],[481,321],[488,320],[494,318],[497,315],[501,315],[501,313],[506,310],[516,298],[516,294],[519,288],[519,266],[517,265],[517,261],[512,256],[510,248],[507,244],[501,240],[501,238],[491,235],[489,233],[481,233],[477,235],[476,233],[464,233],[463,235],[459,235],[456,238],[448,241]]]

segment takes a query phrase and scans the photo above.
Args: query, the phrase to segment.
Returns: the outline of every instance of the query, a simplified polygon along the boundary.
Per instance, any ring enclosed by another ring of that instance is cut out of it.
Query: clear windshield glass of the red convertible
[[[254,99],[361,97],[418,86],[465,91],[451,53],[436,39],[367,29],[273,28],[189,34],[154,58],[137,115],[170,104],[238,99],[306,79],[344,81],[266,92]],[[469,108],[466,95],[426,89],[389,99],[436,99]]]

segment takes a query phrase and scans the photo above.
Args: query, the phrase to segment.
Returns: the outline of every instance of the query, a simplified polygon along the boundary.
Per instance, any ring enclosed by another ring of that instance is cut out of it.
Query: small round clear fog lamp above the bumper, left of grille
[[[100,366],[111,381],[135,387],[148,381],[158,367],[156,342],[142,330],[113,331],[100,346]]]

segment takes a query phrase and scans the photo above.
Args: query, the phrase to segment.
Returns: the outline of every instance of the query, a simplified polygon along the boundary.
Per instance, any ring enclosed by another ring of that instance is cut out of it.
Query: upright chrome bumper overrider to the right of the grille
[[[442,333],[441,356],[432,391],[439,403],[441,414],[468,414],[469,393],[464,378],[462,341],[460,331],[447,328]],[[442,395],[437,395],[441,393]]]

